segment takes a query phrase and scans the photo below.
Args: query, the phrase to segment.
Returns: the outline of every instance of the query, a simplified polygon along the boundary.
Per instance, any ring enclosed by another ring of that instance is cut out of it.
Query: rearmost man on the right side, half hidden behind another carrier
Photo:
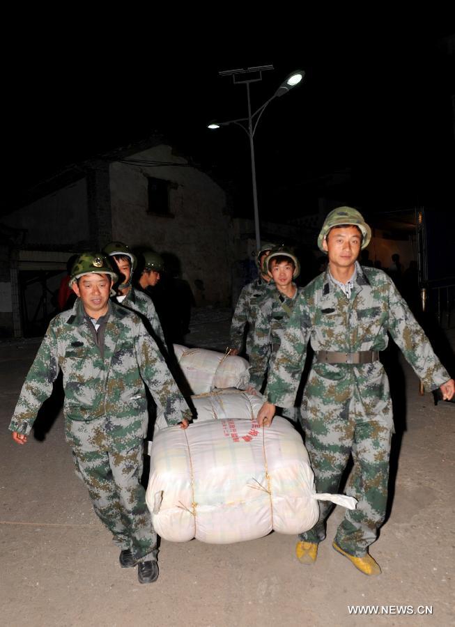
[[[248,325],[247,354],[252,348],[252,333],[254,321],[256,320],[256,305],[265,293],[265,288],[270,281],[268,272],[262,271],[263,261],[270,251],[275,248],[275,244],[263,242],[261,250],[256,254],[256,265],[259,269],[258,278],[245,285],[240,292],[236,309],[231,321],[231,355],[242,353],[245,328]]]

